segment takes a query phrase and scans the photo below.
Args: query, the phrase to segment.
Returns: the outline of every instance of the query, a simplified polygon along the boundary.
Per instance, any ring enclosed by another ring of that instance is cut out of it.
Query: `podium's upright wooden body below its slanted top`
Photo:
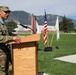
[[[37,45],[28,42],[13,45],[13,75],[37,75]]]

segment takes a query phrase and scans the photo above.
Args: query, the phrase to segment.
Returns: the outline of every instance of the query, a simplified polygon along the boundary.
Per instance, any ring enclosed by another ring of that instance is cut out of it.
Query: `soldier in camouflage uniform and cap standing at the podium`
[[[7,6],[0,6],[0,75],[8,75],[9,63],[12,64],[10,48],[7,45],[9,41],[20,43],[18,36],[9,36],[5,21],[8,18],[10,10]]]

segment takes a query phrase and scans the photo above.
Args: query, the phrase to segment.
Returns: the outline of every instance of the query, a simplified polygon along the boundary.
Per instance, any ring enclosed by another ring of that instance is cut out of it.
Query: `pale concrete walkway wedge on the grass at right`
[[[68,55],[68,56],[63,56],[63,57],[57,57],[54,58],[56,60],[62,60],[65,62],[70,62],[70,63],[76,63],[76,54],[75,55]]]

